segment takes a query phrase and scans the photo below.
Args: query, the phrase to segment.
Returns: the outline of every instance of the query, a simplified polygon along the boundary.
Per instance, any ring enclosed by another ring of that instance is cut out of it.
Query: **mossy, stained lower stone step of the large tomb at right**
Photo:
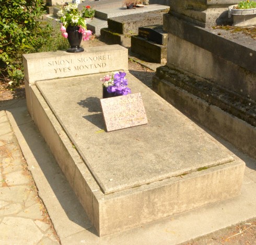
[[[165,70],[165,67],[159,67],[158,75],[153,77],[153,89],[158,95],[197,123],[207,127],[242,151],[256,158],[256,147],[255,144],[252,144],[252,142],[256,141],[255,126],[215,106],[216,101],[218,101],[218,106],[223,104],[223,107],[228,108],[230,111],[231,108],[236,107],[237,102],[231,100],[229,102],[231,104],[226,104],[227,101],[223,103],[221,95],[220,97],[211,98],[212,95],[209,92],[211,90],[207,90],[207,88],[211,88],[210,84],[206,83],[205,86],[202,84],[203,87],[200,89],[193,88],[193,84],[197,82],[197,80],[194,80],[195,78],[188,77],[178,72],[177,69],[168,71],[167,74],[165,74]],[[188,79],[192,81],[191,85]],[[227,98],[226,92],[224,92],[223,97],[225,101]],[[240,97],[238,98],[240,99]],[[214,101],[215,104],[213,103]],[[242,109],[242,111],[245,112],[245,109]]]

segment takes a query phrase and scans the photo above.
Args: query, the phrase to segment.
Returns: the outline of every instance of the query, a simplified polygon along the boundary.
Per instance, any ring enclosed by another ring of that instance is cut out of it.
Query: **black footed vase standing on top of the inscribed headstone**
[[[79,53],[83,52],[84,48],[80,47],[80,43],[82,41],[83,34],[78,32],[78,26],[68,26],[66,29],[67,32],[67,40],[71,46],[71,48],[67,49],[68,53]]]

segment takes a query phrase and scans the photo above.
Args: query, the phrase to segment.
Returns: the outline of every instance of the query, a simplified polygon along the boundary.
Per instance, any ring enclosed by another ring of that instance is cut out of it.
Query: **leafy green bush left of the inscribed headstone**
[[[23,79],[22,54],[38,52],[50,36],[43,14],[43,0],[0,0],[0,71],[11,86]]]

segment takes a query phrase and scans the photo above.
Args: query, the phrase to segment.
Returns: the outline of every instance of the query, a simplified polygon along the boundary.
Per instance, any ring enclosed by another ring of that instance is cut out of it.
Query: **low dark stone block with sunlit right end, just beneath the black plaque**
[[[138,36],[131,38],[132,52],[142,56],[146,61],[166,64],[167,61],[167,45],[156,44],[152,41],[147,41]]]

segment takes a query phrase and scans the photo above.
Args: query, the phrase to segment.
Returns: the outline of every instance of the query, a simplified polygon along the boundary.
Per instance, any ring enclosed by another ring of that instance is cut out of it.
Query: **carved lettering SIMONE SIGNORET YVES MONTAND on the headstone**
[[[64,59],[49,61],[48,67],[53,69],[54,73],[68,73],[71,71],[83,71],[86,69],[97,69],[107,66],[110,55],[98,55],[79,57],[76,59]]]

